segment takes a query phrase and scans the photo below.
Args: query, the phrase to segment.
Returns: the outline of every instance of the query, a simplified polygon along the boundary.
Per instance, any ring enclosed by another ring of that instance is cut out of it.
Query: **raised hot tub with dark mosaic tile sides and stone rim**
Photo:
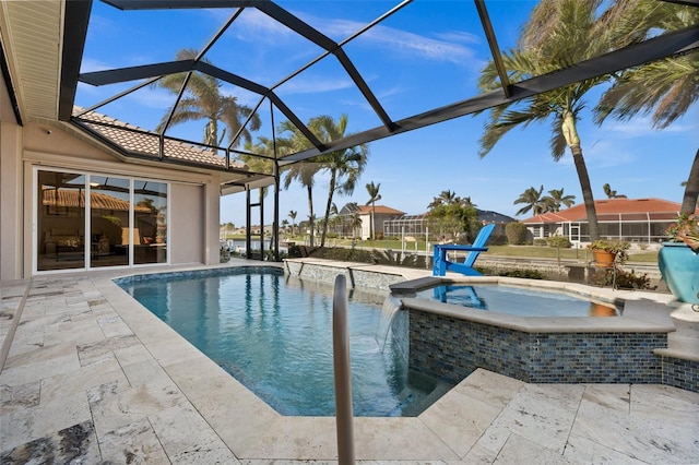
[[[541,289],[607,303],[621,315],[523,317],[419,296],[426,289],[437,295],[434,289],[442,285]],[[647,318],[654,303],[641,296],[624,299],[628,294],[580,284],[483,276],[426,277],[390,287],[408,312],[411,368],[453,382],[485,368],[534,383],[661,383],[662,360],[653,349],[667,347],[667,333],[675,331],[670,318]]]

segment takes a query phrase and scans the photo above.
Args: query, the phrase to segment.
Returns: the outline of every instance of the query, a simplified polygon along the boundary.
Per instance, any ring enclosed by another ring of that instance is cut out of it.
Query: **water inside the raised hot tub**
[[[503,285],[441,285],[420,290],[416,297],[518,317],[618,317],[623,312],[614,303],[553,290]]]

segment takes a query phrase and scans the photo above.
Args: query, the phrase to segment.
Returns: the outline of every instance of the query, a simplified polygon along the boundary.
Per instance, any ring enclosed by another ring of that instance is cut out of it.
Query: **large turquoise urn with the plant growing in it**
[[[657,254],[657,265],[670,291],[683,302],[699,305],[699,218],[683,213],[665,234],[668,242]],[[695,308],[697,310],[697,308]]]

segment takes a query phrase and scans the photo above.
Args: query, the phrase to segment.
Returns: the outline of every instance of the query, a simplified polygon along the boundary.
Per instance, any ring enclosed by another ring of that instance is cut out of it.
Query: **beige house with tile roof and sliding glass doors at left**
[[[7,92],[0,100],[8,108]],[[81,128],[2,117],[3,215],[16,215],[2,235],[13,246],[2,251],[1,277],[218,263],[222,191],[259,177],[210,147],[73,112]],[[10,178],[12,166],[22,167],[23,182]]]

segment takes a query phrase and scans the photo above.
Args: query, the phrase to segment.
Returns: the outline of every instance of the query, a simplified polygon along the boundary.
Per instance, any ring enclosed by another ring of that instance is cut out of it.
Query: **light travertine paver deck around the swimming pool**
[[[332,418],[277,415],[109,276],[33,279],[0,373],[0,463],[47,454],[84,463],[336,463]],[[26,282],[0,289],[4,331]],[[699,315],[671,311],[691,344]],[[357,418],[356,457],[699,463],[698,405],[699,394],[663,385],[528,384],[477,370],[417,418]]]

